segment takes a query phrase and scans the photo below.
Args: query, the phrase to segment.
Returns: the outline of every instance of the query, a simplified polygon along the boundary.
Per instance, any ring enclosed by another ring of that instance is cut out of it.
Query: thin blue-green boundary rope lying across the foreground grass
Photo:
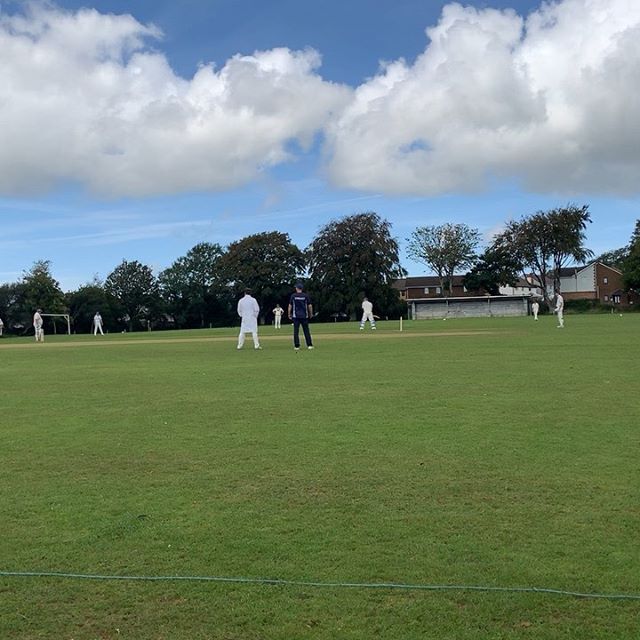
[[[326,587],[350,589],[404,589],[414,591],[485,591],[500,593],[538,593],[574,598],[591,598],[602,600],[640,600],[640,594],[627,593],[581,593],[546,587],[491,587],[480,585],[456,584],[402,584],[397,582],[314,582],[307,580],[284,580],[280,578],[242,578],[224,576],[119,576],[98,575],[90,573],[62,573],[57,571],[0,571],[5,578],[70,578],[81,580],[129,580],[145,582],[221,582],[236,584],[259,584],[293,587]]]

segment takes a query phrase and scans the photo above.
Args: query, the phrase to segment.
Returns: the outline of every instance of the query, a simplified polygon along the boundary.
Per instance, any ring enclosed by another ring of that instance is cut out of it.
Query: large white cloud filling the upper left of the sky
[[[187,80],[146,46],[160,36],[89,9],[0,15],[0,193],[233,188],[309,145],[349,97],[312,50],[238,55]]]

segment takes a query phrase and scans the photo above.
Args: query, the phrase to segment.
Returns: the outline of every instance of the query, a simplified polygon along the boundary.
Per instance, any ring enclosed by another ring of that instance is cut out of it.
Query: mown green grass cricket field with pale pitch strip
[[[640,314],[0,340],[0,570],[640,594]],[[2,639],[636,640],[640,600],[0,577]]]

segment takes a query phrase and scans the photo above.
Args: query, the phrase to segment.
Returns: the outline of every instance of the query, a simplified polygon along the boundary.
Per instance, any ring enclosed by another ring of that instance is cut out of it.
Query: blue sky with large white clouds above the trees
[[[637,0],[0,0],[0,283],[375,211],[640,218]]]

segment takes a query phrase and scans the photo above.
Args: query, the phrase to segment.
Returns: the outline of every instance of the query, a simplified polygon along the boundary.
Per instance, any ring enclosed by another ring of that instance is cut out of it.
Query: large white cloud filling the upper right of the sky
[[[640,191],[640,2],[563,0],[526,20],[450,4],[427,35],[414,64],[384,65],[330,125],[336,185]]]

